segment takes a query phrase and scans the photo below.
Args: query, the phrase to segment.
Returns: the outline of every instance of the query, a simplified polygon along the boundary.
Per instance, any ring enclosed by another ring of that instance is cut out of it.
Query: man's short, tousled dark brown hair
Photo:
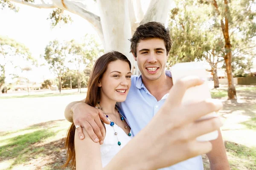
[[[160,38],[164,41],[166,45],[166,53],[168,55],[171,47],[172,47],[172,39],[169,34],[169,29],[165,28],[162,23],[157,22],[149,22],[143,25],[140,25],[134,35],[130,39],[131,41],[131,51],[137,57],[137,44],[141,40],[146,40],[150,38]]]

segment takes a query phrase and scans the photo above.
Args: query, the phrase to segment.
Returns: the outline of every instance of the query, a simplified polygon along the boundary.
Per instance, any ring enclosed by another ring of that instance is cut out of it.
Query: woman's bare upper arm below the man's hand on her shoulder
[[[84,135],[88,135],[83,128]],[[77,132],[76,132],[77,133]],[[99,143],[91,138],[79,139],[75,133],[76,170],[102,170],[102,160]]]

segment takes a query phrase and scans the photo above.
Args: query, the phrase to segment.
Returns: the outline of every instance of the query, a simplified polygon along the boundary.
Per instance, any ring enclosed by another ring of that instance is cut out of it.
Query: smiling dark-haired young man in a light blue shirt
[[[141,75],[132,77],[130,92],[125,102],[118,105],[135,136],[150,122],[169,96],[173,85],[172,75],[170,71],[165,71],[165,68],[171,46],[169,30],[157,22],[139,26],[131,38],[131,52]],[[175,105],[169,103],[172,104]],[[96,116],[99,113],[103,119],[98,109],[85,104],[79,105],[77,102],[70,103],[65,110],[65,116],[70,122],[73,118],[75,125],[85,127],[90,137],[102,144],[102,136],[105,134],[104,127],[99,123],[99,116]],[[207,154],[211,170],[229,170],[221,132],[218,132],[218,139],[211,141],[213,149]],[[79,135],[83,138],[82,133]],[[197,156],[164,169],[203,170],[204,167],[201,156]]]

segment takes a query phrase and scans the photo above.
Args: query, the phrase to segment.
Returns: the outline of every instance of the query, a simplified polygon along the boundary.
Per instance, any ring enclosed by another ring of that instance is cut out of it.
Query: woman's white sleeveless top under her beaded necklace
[[[106,136],[104,139],[104,143],[100,145],[102,166],[105,167],[111,159],[125,146],[132,138],[133,135],[128,136],[124,130],[118,125],[114,125],[113,127],[116,130],[117,135],[115,135],[115,131],[111,125],[105,124],[106,127]],[[131,132],[130,132],[131,133]],[[118,138],[118,139],[117,139]],[[117,143],[121,142],[119,146]]]

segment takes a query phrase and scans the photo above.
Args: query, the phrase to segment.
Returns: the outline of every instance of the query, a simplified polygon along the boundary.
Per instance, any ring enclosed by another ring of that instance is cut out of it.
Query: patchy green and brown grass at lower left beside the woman
[[[60,141],[67,133],[69,122],[62,121],[50,121],[33,125],[31,127],[6,132],[0,134],[0,162],[11,162],[6,170],[28,164],[31,160],[47,159],[47,157],[58,156],[61,153],[64,146],[56,147],[57,144],[64,144]],[[46,162],[49,160],[46,160]],[[50,161],[51,162],[51,161]],[[50,169],[60,169],[57,165],[61,166],[63,162],[54,161],[48,163],[46,167]],[[0,163],[1,169],[1,163]]]

